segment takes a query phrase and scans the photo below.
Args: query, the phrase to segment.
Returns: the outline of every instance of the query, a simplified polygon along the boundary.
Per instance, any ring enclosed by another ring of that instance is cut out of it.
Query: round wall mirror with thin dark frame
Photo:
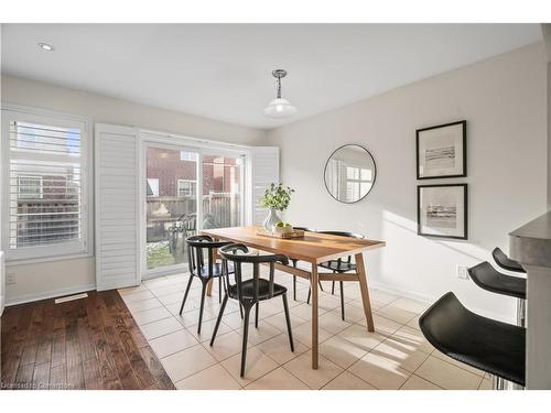
[[[333,152],[325,164],[325,187],[336,200],[357,203],[375,185],[377,167],[367,149],[347,144]]]

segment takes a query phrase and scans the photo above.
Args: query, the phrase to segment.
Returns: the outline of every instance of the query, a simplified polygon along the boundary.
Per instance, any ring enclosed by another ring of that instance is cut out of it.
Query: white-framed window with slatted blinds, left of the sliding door
[[[86,122],[2,110],[2,128],[7,258],[86,252]]]

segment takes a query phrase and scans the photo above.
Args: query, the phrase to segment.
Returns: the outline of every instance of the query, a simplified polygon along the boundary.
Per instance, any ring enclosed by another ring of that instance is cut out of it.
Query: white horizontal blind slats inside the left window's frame
[[[82,241],[80,129],[11,121],[10,151],[10,248]]]

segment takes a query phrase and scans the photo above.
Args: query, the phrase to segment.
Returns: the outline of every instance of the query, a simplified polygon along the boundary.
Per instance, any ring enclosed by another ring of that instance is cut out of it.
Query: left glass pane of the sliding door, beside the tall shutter
[[[147,150],[148,270],[187,262],[185,238],[195,235],[197,153]]]

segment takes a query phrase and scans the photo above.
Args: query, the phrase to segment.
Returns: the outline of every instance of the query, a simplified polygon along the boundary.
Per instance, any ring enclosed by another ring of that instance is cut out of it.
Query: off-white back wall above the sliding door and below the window
[[[115,123],[241,144],[262,144],[266,132],[101,95],[67,89],[12,76],[1,78],[1,100],[83,116],[90,124]],[[94,137],[94,130],[89,131]],[[93,176],[93,175],[91,175]],[[90,199],[93,205],[94,199]],[[7,302],[57,296],[95,287],[94,257],[40,264],[10,265],[15,284],[7,286]]]

